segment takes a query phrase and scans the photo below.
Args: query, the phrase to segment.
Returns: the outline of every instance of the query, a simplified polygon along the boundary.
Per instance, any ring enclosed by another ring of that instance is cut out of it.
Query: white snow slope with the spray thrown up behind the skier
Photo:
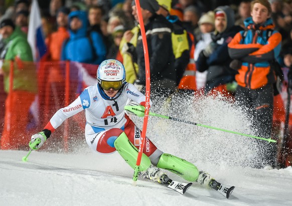
[[[174,97],[163,105],[155,104],[151,111],[255,132],[242,109],[224,99],[184,99]],[[142,118],[132,119],[141,128]],[[117,152],[91,151],[81,138],[64,152],[50,144],[58,138],[53,134],[45,149],[32,151],[27,162],[22,157],[28,150],[0,150],[0,205],[292,205],[292,167],[253,168],[260,162],[256,139],[153,116],[147,135],[164,152],[193,162],[219,182],[234,185],[231,197],[226,199],[196,182],[184,195],[141,179],[133,186],[133,169]]]

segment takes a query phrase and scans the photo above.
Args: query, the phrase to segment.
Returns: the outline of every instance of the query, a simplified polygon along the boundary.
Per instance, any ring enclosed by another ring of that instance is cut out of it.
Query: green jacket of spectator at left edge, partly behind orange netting
[[[4,86],[9,93],[10,60],[14,60],[13,90],[25,90],[37,92],[36,67],[33,62],[33,54],[26,34],[16,27],[14,32],[4,41],[7,43],[1,58],[4,58]]]

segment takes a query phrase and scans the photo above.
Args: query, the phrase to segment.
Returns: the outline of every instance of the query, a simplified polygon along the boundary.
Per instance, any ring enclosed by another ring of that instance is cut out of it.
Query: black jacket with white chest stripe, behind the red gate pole
[[[145,25],[145,32],[149,50],[151,81],[168,78],[176,83],[174,54],[172,47],[172,24],[162,15],[154,15]],[[145,61],[142,36],[139,33],[137,46],[137,62],[139,67],[138,84],[145,85]]]

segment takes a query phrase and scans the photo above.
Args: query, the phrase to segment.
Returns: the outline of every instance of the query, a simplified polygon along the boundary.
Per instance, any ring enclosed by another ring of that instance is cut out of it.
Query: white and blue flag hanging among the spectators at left
[[[34,61],[39,61],[46,53],[47,47],[42,29],[40,7],[37,0],[33,0],[31,6],[28,42],[32,48]]]

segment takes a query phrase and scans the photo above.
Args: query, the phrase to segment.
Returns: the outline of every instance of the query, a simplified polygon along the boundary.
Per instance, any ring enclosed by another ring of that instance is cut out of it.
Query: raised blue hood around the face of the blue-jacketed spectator
[[[82,26],[76,31],[73,31],[70,27],[70,23],[73,17],[78,17],[82,22]],[[69,14],[68,18],[69,18],[70,38],[74,39],[74,38],[84,37],[87,35],[88,20],[87,20],[87,13],[85,11],[80,11],[80,10],[72,11]]]

